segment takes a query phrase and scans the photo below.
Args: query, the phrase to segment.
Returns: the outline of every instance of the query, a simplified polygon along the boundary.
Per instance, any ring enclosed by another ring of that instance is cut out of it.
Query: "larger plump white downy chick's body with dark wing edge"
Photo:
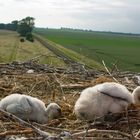
[[[79,119],[94,120],[108,113],[121,112],[132,102],[132,95],[125,86],[105,82],[83,90],[74,111]]]

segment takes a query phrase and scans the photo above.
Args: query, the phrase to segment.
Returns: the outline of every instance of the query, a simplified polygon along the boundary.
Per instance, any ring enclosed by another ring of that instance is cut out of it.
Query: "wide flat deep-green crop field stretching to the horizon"
[[[109,32],[86,32],[60,29],[36,29],[49,40],[74,50],[108,67],[114,63],[121,70],[140,72],[140,36]]]

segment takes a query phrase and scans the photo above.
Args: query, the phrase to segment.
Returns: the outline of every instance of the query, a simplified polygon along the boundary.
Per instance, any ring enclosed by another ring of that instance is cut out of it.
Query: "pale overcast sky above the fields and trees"
[[[0,23],[27,16],[36,27],[140,33],[140,0],[0,0]]]

